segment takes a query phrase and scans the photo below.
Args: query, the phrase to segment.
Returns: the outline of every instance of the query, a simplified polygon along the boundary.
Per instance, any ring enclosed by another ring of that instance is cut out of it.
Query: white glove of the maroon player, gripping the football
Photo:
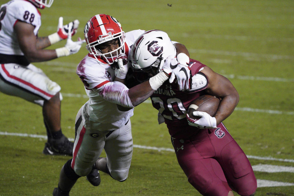
[[[217,128],[217,120],[203,111],[194,111],[194,116],[201,117],[200,119],[191,119],[187,113],[187,121],[190,126],[196,126],[199,129]]]

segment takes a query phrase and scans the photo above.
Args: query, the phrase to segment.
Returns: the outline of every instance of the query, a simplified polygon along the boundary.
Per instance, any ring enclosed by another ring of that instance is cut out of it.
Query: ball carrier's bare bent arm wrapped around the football
[[[220,105],[214,115],[218,125],[232,114],[239,102],[239,94],[226,77],[217,74],[209,67],[204,67],[200,72],[205,74],[209,81],[205,91],[210,95],[221,98]]]

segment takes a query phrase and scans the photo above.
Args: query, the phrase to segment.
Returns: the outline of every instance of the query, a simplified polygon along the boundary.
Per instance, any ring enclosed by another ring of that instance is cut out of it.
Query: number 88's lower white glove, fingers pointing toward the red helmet
[[[71,23],[69,24],[69,28],[72,28]],[[78,40],[74,42],[71,40],[71,34],[68,34],[65,46],[55,50],[57,57],[68,56],[77,53],[81,49],[82,43],[85,42],[86,40],[81,40],[81,38],[78,38]]]

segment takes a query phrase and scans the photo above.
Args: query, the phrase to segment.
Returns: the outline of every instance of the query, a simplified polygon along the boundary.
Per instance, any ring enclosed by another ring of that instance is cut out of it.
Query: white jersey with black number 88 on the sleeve
[[[17,21],[32,24],[37,36],[41,26],[41,13],[30,2],[25,0],[12,0],[3,4],[0,9],[3,19],[0,21],[0,53],[6,55],[24,55],[19,47],[13,26]]]

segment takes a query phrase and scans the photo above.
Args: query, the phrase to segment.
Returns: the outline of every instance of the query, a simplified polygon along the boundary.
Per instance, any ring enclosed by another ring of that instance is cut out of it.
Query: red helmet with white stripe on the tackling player
[[[86,48],[91,55],[97,58],[103,58],[107,64],[112,64],[117,56],[125,51],[125,32],[123,32],[120,23],[112,16],[106,14],[97,14],[90,18],[84,30]],[[114,39],[119,40],[119,47],[114,51],[102,53],[98,45]],[[113,55],[113,53],[115,55]],[[110,56],[110,57],[106,57]]]

